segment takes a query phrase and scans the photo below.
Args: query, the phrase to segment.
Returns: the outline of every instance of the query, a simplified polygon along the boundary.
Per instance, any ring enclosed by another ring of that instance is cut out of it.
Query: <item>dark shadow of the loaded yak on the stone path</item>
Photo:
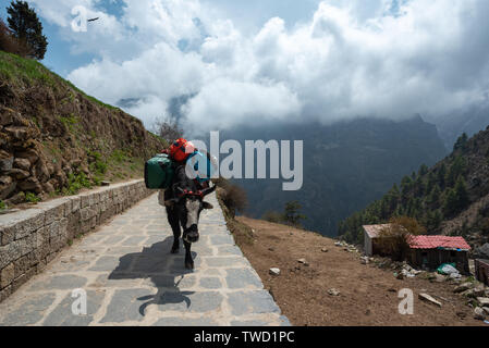
[[[163,241],[155,243],[149,248],[144,247],[140,252],[127,253],[119,259],[119,265],[113,270],[109,279],[149,278],[157,288],[157,294],[137,298],[146,301],[139,307],[139,313],[150,304],[179,304],[185,302],[188,308],[192,303],[188,298],[194,291],[182,291],[179,285],[185,281],[186,270],[183,261],[183,251],[180,254],[170,253],[173,236]],[[195,252],[193,258],[196,257]],[[176,282],[175,282],[176,281]]]

